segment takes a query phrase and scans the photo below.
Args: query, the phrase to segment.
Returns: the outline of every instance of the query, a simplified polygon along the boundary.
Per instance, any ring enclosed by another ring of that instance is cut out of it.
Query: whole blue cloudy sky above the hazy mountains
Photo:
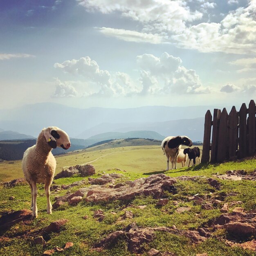
[[[0,109],[256,98],[256,0],[0,0],[0,24]]]

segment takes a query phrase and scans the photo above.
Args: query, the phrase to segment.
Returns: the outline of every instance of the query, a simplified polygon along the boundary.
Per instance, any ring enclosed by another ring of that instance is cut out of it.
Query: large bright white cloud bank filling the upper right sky
[[[77,2],[87,11],[120,13],[122,17],[138,22],[137,27],[141,28],[137,31],[101,28],[101,32],[107,36],[133,42],[168,42],[180,48],[197,49],[200,52],[256,54],[256,0],[248,0],[247,6],[238,7],[225,14],[217,13],[218,10],[212,13],[216,2],[204,0],[148,0],[134,1],[132,4],[129,0]],[[229,0],[229,4],[237,2]],[[192,7],[192,3],[197,8]],[[209,17],[207,13],[211,17],[217,15],[219,21],[206,22]]]

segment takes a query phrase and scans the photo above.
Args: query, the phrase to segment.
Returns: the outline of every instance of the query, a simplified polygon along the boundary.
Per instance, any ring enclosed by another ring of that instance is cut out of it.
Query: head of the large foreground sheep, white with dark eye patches
[[[47,144],[51,148],[69,149],[71,146],[70,138],[67,133],[56,126],[50,126],[44,130]]]

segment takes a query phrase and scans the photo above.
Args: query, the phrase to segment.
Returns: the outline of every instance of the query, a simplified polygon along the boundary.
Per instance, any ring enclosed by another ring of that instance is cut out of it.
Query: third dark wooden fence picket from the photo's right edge
[[[229,134],[229,159],[236,159],[236,136],[237,136],[237,112],[236,107],[233,106],[228,119],[228,134]]]

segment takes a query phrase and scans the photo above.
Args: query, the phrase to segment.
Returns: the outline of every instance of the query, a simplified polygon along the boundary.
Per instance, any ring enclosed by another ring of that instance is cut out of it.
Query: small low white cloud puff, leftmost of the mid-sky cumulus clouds
[[[73,86],[72,81],[61,82],[58,78],[55,78],[56,90],[53,98],[64,98],[64,97],[76,97],[77,91]]]

